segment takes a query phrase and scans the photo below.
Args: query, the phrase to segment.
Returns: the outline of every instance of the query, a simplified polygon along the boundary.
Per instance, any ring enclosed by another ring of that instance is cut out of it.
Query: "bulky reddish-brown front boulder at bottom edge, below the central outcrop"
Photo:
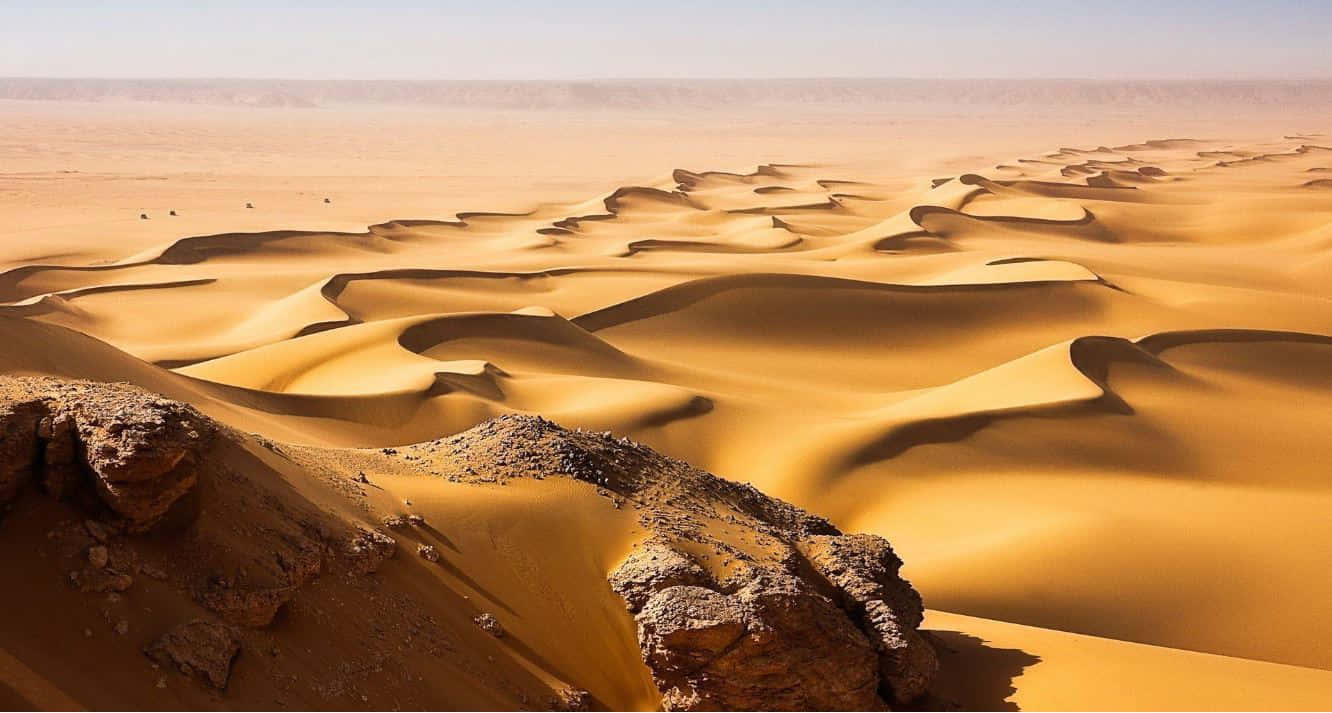
[[[763,577],[730,596],[671,586],[637,621],[667,710],[883,708],[868,640],[795,577]]]

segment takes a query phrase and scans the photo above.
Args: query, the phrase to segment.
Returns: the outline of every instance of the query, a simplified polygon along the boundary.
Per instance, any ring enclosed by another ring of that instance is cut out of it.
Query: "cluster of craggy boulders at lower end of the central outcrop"
[[[868,710],[924,693],[938,661],[888,542],[823,534],[793,550],[718,581],[657,540],[611,573],[666,709]]]

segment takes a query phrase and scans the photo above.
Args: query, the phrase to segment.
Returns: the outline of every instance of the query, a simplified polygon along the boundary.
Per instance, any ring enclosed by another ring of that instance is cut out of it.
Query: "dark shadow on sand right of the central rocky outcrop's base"
[[[916,710],[1020,710],[1014,681],[1040,657],[991,646],[962,632],[923,632],[939,654],[939,674]]]

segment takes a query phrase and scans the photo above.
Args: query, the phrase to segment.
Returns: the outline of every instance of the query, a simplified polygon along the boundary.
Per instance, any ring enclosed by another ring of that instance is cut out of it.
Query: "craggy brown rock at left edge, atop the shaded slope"
[[[91,490],[145,530],[194,486],[214,430],[193,408],[128,385],[0,378],[0,501],[35,480],[56,498]]]

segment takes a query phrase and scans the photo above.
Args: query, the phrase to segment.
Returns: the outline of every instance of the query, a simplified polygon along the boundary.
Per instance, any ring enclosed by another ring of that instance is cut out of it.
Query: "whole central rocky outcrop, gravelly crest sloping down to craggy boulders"
[[[450,480],[571,477],[631,504],[649,537],[610,586],[667,710],[884,709],[918,698],[935,673],[920,596],[882,537],[842,534],[753,486],[537,417],[503,416],[402,456]]]

